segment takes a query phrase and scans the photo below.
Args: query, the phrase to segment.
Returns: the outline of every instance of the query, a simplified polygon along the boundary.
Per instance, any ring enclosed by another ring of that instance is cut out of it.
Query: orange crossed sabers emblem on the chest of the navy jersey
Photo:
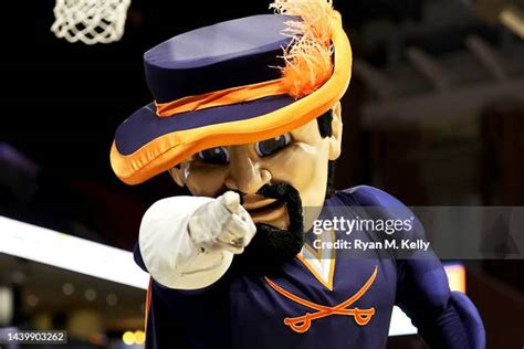
[[[346,300],[344,300],[343,303],[334,307],[323,306],[323,305],[310,302],[307,299],[301,298],[298,296],[295,296],[291,292],[273,283],[268,277],[265,278],[265,281],[268,282],[268,284],[270,284],[271,287],[273,287],[277,293],[280,293],[284,297],[290,298],[291,300],[297,304],[301,304],[307,308],[317,310],[316,313],[313,313],[313,314],[306,313],[305,315],[302,315],[302,316],[292,317],[292,318],[286,317],[284,319],[284,324],[291,327],[292,330],[298,334],[303,334],[310,329],[311,322],[313,320],[321,319],[321,318],[332,316],[332,315],[353,316],[355,319],[355,322],[357,322],[359,326],[366,326],[371,320],[371,317],[375,315],[375,307],[370,307],[369,309],[359,309],[357,307],[348,309],[347,307],[354,304],[355,302],[357,302],[361,296],[366,294],[366,292],[375,282],[375,278],[377,277],[377,272],[378,272],[378,267],[376,266],[371,276],[369,276],[369,278],[364,284],[364,286],[355,295],[353,295],[352,297],[347,298]]]

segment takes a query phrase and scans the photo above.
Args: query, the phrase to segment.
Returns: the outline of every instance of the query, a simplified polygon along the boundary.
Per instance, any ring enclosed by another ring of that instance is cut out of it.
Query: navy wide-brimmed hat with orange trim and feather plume
[[[276,137],[339,101],[352,66],[339,14],[326,0],[272,7],[277,14],[201,28],[144,54],[154,102],[116,130],[118,178],[140,183],[207,148]]]

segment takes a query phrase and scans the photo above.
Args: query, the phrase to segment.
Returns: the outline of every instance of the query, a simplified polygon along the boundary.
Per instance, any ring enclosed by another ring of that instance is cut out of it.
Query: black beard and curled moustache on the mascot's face
[[[298,191],[284,182],[265,184],[256,193],[285,203],[290,226],[283,230],[258,223],[256,234],[244,252],[234,257],[233,268],[266,274],[295,257],[304,245],[302,200]]]

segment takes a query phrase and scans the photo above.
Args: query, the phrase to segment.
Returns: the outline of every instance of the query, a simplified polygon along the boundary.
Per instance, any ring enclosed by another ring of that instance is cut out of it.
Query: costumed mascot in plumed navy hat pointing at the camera
[[[144,54],[155,101],[118,127],[112,167],[128,184],[168,171],[190,192],[156,202],[140,225],[146,348],[385,348],[394,305],[432,348],[483,348],[479,313],[450,292],[431,250],[358,256],[312,245],[329,208],[413,214],[375,188],[332,188],[352,73],[332,1],[271,8]],[[423,239],[416,219],[409,234]]]

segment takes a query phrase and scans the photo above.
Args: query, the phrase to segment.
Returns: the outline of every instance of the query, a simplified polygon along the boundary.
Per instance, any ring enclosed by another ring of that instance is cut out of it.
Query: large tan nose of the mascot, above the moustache
[[[231,147],[229,173],[226,187],[247,194],[254,194],[271,181],[271,173],[260,168],[260,163],[250,157],[243,147]]]

